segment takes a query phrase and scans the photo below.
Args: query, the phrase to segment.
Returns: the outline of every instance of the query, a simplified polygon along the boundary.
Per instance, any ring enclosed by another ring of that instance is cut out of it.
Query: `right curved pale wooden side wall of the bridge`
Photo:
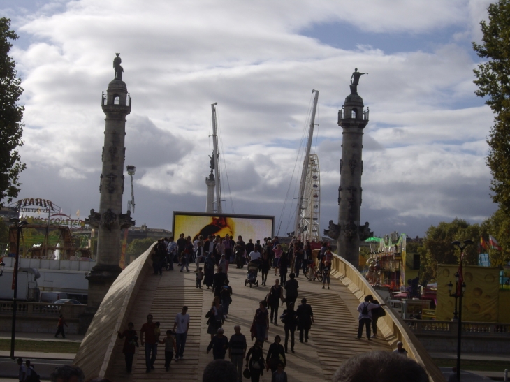
[[[333,256],[331,269],[331,275],[340,279],[360,302],[363,301],[366,295],[373,295],[377,300],[383,301],[356,267],[336,254]],[[430,382],[446,381],[441,370],[435,365],[428,351],[416,338],[407,323],[394,314],[391,309],[385,309],[385,311],[386,316],[379,318],[377,323],[381,326],[381,331],[384,332],[386,339],[388,339],[393,348],[397,347],[396,343],[398,341],[402,341],[404,348],[407,349],[409,358],[416,360],[416,362],[425,367]]]

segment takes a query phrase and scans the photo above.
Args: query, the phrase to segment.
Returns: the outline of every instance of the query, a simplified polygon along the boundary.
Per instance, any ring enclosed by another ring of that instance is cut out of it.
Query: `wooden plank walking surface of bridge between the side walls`
[[[167,329],[173,328],[173,319],[183,305],[189,307],[191,324],[184,351],[184,360],[172,362],[169,372],[164,368],[163,346],[159,346],[159,354],[155,363],[155,370],[145,373],[145,356],[143,348],[138,348],[135,356],[133,373],[126,374],[124,355],[122,354],[122,341],[117,341],[112,350],[112,365],[105,377],[112,381],[201,381],[203,369],[212,360],[212,352],[206,354],[206,348],[210,341],[207,334],[205,314],[212,304],[213,294],[207,288],[202,290],[195,287],[194,265],[190,266],[191,272],[180,273],[178,270],[166,272],[163,276],[147,274],[143,286],[136,295],[136,301],[131,309],[128,321],[135,323],[136,330],[140,330],[146,321],[145,317],[150,312],[154,321],[161,323],[161,336]],[[225,335],[233,335],[233,326],[240,325],[241,332],[247,337],[248,347],[254,341],[250,338],[249,328],[258,302],[267,295],[270,284],[275,281],[274,270],[268,277],[268,286],[262,286],[259,274],[258,287],[244,285],[246,268],[237,270],[230,267],[228,279],[233,288],[233,303],[231,304],[228,319],[224,323]],[[373,350],[391,351],[391,346],[379,330],[379,338],[367,341],[366,338],[357,340],[358,307],[359,300],[349,291],[349,288],[341,281],[332,277],[330,290],[321,289],[322,284],[318,281],[308,281],[301,275],[298,277],[299,297],[298,301],[306,297],[312,305],[315,323],[310,331],[308,343],[298,341],[296,331],[296,353],[287,354],[286,372],[289,381],[330,381],[335,370],[344,360],[358,353]],[[279,314],[283,307],[280,307]],[[269,341],[264,345],[264,353],[267,352],[275,335],[284,339],[283,324],[270,325]],[[390,336],[391,337],[391,336]],[[289,339],[290,341],[290,339]],[[261,381],[270,381],[270,373],[264,373]]]

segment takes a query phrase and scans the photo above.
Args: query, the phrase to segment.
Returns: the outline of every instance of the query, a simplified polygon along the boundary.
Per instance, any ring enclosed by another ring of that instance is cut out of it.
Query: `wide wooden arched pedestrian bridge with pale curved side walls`
[[[196,288],[193,272],[195,265],[190,265],[190,272],[174,270],[163,272],[163,276],[154,276],[150,260],[152,247],[119,275],[87,330],[74,360],[74,364],[85,372],[87,381],[97,376],[126,382],[201,381],[205,365],[212,360],[212,353],[206,354],[210,335],[207,334],[205,313],[210,309],[213,294],[207,288]],[[286,372],[289,381],[330,381],[337,367],[353,355],[374,350],[392,351],[397,341],[404,343],[409,358],[428,370],[431,382],[444,381],[442,373],[425,348],[390,309],[386,309],[386,316],[379,318],[379,337],[367,341],[363,333],[363,339],[356,339],[358,304],[365,295],[376,297],[377,293],[356,268],[339,256],[335,256],[332,268],[330,290],[322,289],[318,281],[308,281],[303,275],[297,279],[298,301],[307,298],[314,311],[315,323],[308,343],[300,343],[296,332],[296,353],[289,351],[287,355]],[[252,318],[258,302],[267,295],[276,277],[272,270],[268,275],[268,286],[262,286],[259,275],[260,286],[249,288],[244,283],[245,271],[246,268],[238,270],[229,267],[228,279],[234,294],[224,329],[225,335],[230,337],[234,325],[240,325],[241,332],[247,337],[248,346],[251,346],[253,341],[250,340],[249,328]],[[170,371],[166,372],[163,367],[164,348],[159,346],[155,370],[146,374],[145,355],[140,346],[133,360],[133,372],[126,374],[122,354],[124,340],[117,338],[117,330],[124,330],[127,323],[132,321],[139,333],[150,313],[154,321],[161,323],[163,335],[166,330],[173,328],[175,314],[181,311],[183,305],[189,307],[188,313],[191,316],[184,360],[174,360]],[[280,310],[283,311],[282,308]],[[270,343],[275,335],[280,335],[283,341],[283,325],[270,325]],[[264,353],[268,347],[266,343]],[[270,380],[270,373],[264,373],[261,377],[261,381]]]

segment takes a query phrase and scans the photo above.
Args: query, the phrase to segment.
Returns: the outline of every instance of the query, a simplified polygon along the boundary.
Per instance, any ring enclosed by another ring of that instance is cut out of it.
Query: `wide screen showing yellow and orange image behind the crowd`
[[[191,236],[226,234],[237,238],[239,235],[247,242],[252,239],[263,240],[272,237],[275,231],[275,216],[239,215],[239,214],[203,214],[200,212],[173,212],[173,235],[181,233]]]

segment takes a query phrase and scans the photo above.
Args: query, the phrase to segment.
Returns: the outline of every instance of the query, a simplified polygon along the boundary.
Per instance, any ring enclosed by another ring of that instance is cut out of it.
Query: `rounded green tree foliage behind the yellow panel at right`
[[[442,221],[437,227],[430,226],[425,233],[423,247],[418,248],[421,254],[421,279],[434,280],[438,264],[458,264],[460,251],[451,243],[455,240],[473,240],[464,250],[464,263],[478,264],[478,246],[481,233],[479,224],[469,224],[462,219],[454,219],[451,223]]]

